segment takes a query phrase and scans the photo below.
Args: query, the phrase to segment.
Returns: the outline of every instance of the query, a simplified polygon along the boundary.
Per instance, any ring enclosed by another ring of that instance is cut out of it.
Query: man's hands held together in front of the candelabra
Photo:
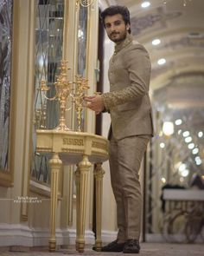
[[[85,96],[86,107],[92,109],[98,115],[104,110],[104,102],[101,95]]]

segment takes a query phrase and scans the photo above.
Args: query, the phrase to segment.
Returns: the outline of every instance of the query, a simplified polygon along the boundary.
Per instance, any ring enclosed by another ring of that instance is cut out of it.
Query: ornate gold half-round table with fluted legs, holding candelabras
[[[96,247],[100,250],[101,241],[101,201],[102,182],[104,171],[101,167],[103,161],[108,159],[108,141],[99,135],[63,130],[37,130],[36,151],[50,154],[51,167],[51,221],[49,251],[54,252],[56,247],[55,223],[58,194],[59,172],[64,164],[77,164],[76,194],[76,250],[84,252],[85,246],[85,219],[86,219],[86,194],[88,172],[92,163],[97,163],[94,171],[96,178],[96,214],[97,235]]]

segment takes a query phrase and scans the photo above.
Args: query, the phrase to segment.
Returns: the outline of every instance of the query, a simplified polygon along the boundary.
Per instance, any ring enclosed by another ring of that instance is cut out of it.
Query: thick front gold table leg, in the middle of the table
[[[76,238],[76,248],[80,253],[84,252],[85,246],[85,220],[86,220],[86,195],[87,195],[87,185],[88,185],[88,171],[92,166],[91,162],[88,160],[87,155],[83,155],[82,161],[79,163],[80,168],[80,187],[77,202],[77,238]]]

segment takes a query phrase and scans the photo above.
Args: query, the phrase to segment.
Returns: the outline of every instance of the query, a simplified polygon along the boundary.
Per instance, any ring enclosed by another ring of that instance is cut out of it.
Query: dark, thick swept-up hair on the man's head
[[[105,26],[105,17],[113,16],[116,14],[121,14],[123,16],[125,25],[126,24],[131,25],[130,11],[127,9],[127,7],[121,6],[121,5],[111,5],[105,10],[103,10],[100,14],[100,18],[104,26]],[[128,32],[131,34],[131,29],[129,29]]]

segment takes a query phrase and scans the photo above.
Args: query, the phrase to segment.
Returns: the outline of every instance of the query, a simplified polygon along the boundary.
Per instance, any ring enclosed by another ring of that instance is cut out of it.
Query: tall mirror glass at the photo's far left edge
[[[10,69],[13,1],[0,1],[0,170],[9,171]]]

